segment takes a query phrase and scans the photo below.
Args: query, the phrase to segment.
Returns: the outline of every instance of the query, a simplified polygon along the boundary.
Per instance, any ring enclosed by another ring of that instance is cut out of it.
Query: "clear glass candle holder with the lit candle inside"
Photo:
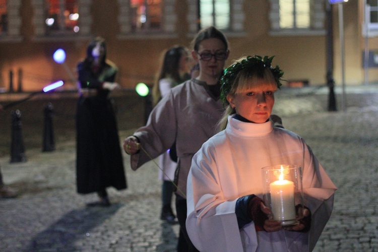
[[[272,210],[271,220],[282,226],[295,226],[303,218],[302,172],[298,165],[273,165],[262,168],[263,198]]]

